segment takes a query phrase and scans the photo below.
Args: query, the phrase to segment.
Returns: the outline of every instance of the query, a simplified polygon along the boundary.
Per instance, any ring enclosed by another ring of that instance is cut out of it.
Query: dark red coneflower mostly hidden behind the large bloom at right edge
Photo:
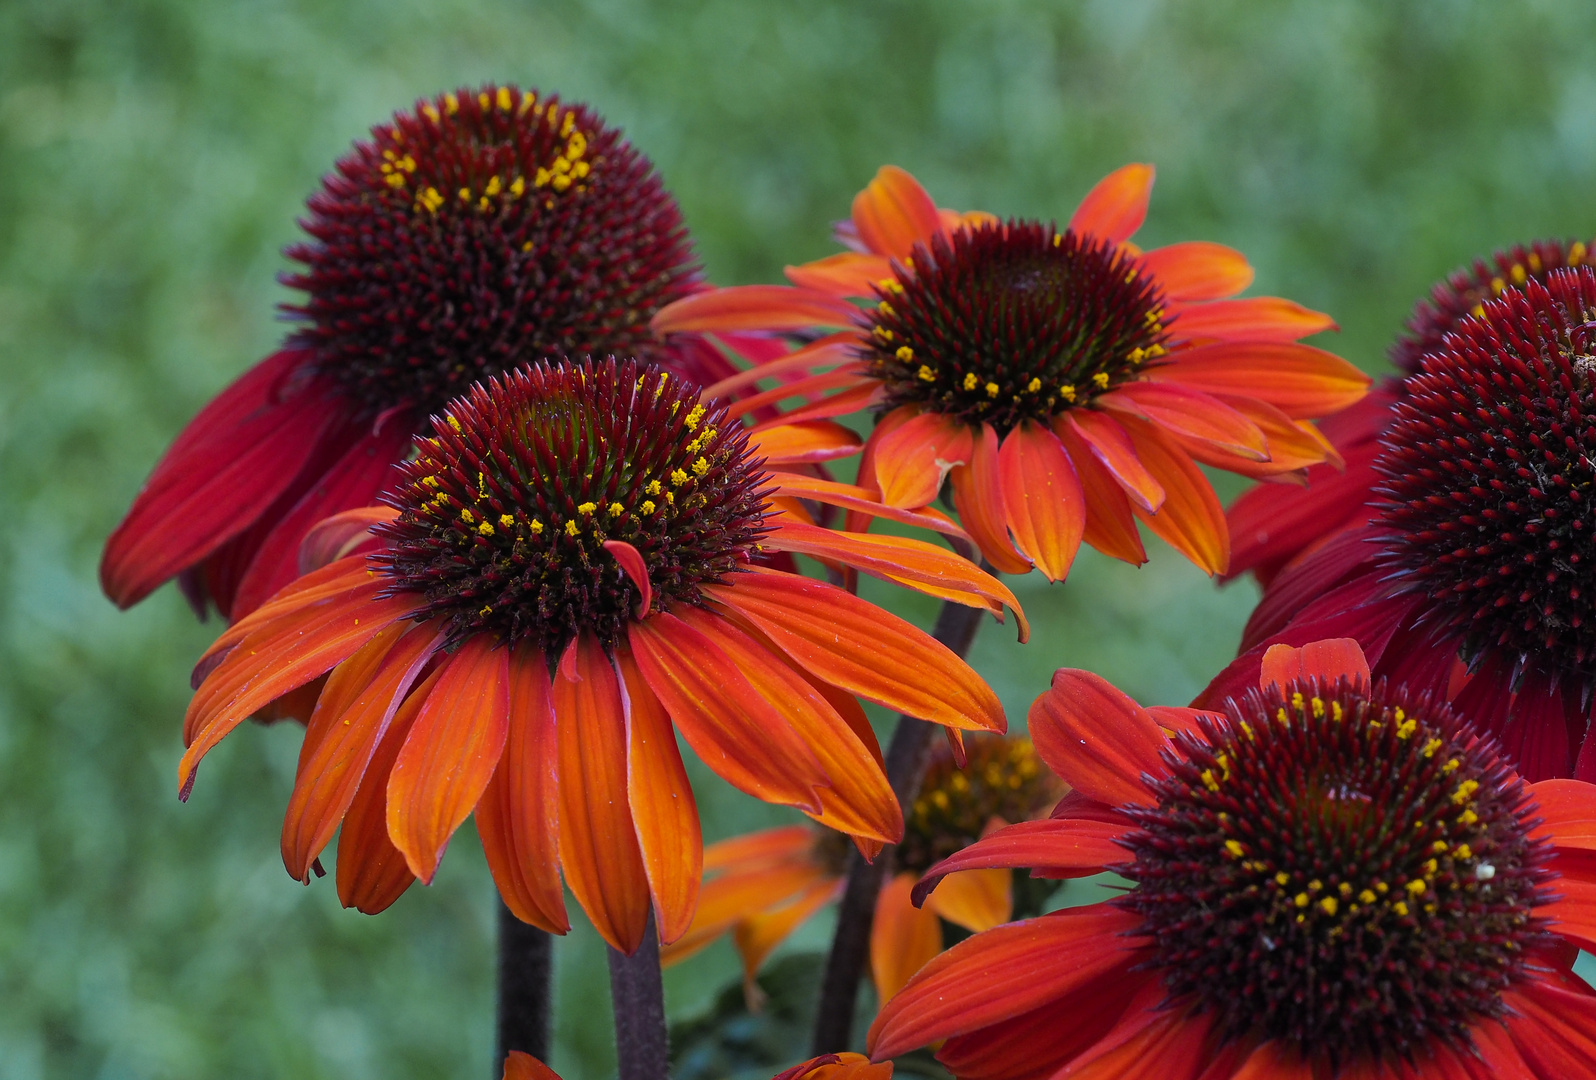
[[[1476,258],[1472,266],[1436,282],[1414,306],[1406,332],[1392,346],[1396,376],[1382,380],[1368,397],[1320,424],[1344,466],[1310,466],[1306,487],[1259,485],[1231,504],[1226,514],[1231,523],[1229,576],[1251,571],[1267,587],[1298,555],[1368,522],[1368,503],[1379,483],[1374,458],[1381,453],[1381,436],[1424,356],[1440,349],[1465,316],[1479,314],[1481,305],[1500,297],[1503,289],[1545,282],[1551,271],[1578,266],[1590,255],[1583,241],[1542,239],[1499,250],[1489,262]]]

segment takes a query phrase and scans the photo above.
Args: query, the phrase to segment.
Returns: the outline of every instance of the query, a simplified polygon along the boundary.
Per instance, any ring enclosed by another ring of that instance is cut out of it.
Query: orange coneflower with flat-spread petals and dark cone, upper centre
[[[938,211],[889,166],[839,228],[854,250],[790,266],[790,287],[678,300],[654,327],[819,335],[720,386],[836,365],[739,408],[835,391],[757,426],[796,428],[817,453],[851,450],[817,420],[878,410],[859,483],[919,507],[948,479],[1001,571],[1060,579],[1082,539],[1140,565],[1140,520],[1219,573],[1229,538],[1197,463],[1277,475],[1325,461],[1333,451],[1307,421],[1358,400],[1369,380],[1298,345],[1331,329],[1326,316],[1229,298],[1253,279],[1238,252],[1130,244],[1151,190],[1151,166],[1125,166],[1058,228]]]

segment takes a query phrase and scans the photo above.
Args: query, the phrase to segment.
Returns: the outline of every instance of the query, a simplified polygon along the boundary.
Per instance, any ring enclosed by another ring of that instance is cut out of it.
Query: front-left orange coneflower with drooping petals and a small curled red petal
[[[895,841],[902,814],[854,694],[1004,727],[991,689],[934,638],[760,558],[803,550],[975,606],[1012,593],[945,549],[780,512],[747,434],[681,380],[632,361],[538,364],[474,386],[433,428],[385,496],[377,549],[233,624],[185,718],[184,794],[244,718],[330,672],[282,858],[306,881],[342,822],[345,905],[380,911],[431,881],[476,810],[511,911],[563,932],[563,869],[630,952],[650,901],[670,941],[697,897],[675,732],[734,786],[868,847]]]

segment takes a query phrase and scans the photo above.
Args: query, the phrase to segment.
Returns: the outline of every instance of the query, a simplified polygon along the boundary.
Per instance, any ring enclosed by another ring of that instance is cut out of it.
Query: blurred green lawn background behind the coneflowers
[[[3,0],[0,1077],[490,1075],[469,826],[375,919],[292,882],[298,732],[241,729],[179,806],[214,627],[171,589],[117,613],[94,577],[172,434],[278,340],[279,249],[372,123],[484,80],[586,99],[725,284],[830,252],[881,163],[945,206],[1052,217],[1154,161],[1138,239],[1240,247],[1254,292],[1333,313],[1328,345],[1376,370],[1451,266],[1596,228],[1593,40],[1588,0]],[[1060,664],[1186,700],[1253,601],[1162,547],[1018,589],[1031,644],[990,629],[974,657],[1017,723]],[[712,839],[784,820],[701,778]],[[557,957],[552,1064],[606,1075],[602,949],[583,927]],[[733,975],[725,944],[672,970],[672,1016]]]

